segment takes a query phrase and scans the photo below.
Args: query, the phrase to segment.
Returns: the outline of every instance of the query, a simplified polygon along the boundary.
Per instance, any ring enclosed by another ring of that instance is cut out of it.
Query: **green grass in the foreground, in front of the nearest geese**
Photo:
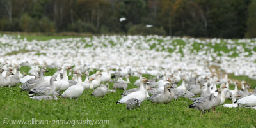
[[[20,71],[28,73],[30,68]],[[56,69],[49,69],[46,75],[53,75]],[[150,75],[144,75],[150,78]],[[131,77],[128,89],[136,86],[137,77]],[[84,80],[84,76],[83,76]],[[112,89],[114,82],[108,82]],[[51,120],[108,120],[108,124],[76,124],[74,127],[255,127],[256,110],[248,108],[217,107],[206,112],[188,108],[189,99],[180,98],[169,104],[154,104],[144,101],[141,111],[126,110],[125,104],[115,104],[123,90],[108,92],[103,97],[91,96],[93,90],[84,90],[78,101],[59,98],[57,101],[35,101],[28,92],[20,92],[17,87],[0,89],[1,120],[8,118],[9,124],[0,127],[52,127]],[[228,100],[225,103],[232,103]],[[11,124],[11,120],[49,120],[48,124]],[[72,124],[53,124],[54,127],[72,127]]]

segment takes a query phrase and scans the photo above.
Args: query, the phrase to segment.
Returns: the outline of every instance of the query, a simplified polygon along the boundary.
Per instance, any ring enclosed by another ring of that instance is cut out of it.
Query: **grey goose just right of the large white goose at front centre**
[[[170,103],[172,99],[174,99],[174,93],[169,92],[168,90],[168,88],[170,87],[171,87],[170,83],[166,83],[164,85],[164,92],[153,94],[148,98],[148,100],[150,100],[152,103],[164,103],[164,104]]]

